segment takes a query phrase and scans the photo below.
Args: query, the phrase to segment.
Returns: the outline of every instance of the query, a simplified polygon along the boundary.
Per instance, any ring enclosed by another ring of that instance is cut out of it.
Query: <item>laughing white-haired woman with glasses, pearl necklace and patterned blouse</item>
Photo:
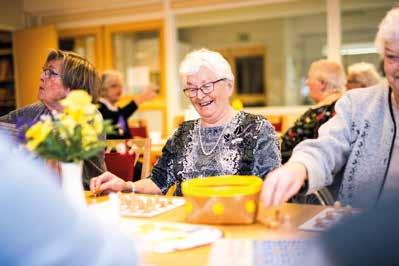
[[[234,76],[217,52],[189,53],[180,66],[183,92],[200,118],[184,122],[167,141],[149,178],[124,182],[111,173],[92,179],[93,192],[165,194],[184,180],[219,175],[264,177],[280,166],[276,134],[263,117],[236,112],[230,105]]]

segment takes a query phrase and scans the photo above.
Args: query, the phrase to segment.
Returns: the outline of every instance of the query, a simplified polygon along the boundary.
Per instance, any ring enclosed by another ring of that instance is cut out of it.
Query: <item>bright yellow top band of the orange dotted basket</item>
[[[184,196],[232,197],[258,193],[263,180],[258,176],[225,175],[195,178],[182,183]]]

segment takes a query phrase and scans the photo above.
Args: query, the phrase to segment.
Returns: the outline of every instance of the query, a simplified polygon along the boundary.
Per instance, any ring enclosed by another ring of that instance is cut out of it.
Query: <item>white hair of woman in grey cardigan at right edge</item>
[[[391,9],[380,23],[375,37],[375,46],[384,55],[386,42],[399,41],[399,8]]]

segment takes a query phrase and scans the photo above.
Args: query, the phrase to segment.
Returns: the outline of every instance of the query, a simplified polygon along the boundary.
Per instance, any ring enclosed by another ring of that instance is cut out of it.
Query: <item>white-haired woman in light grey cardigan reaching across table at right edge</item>
[[[399,193],[399,9],[382,20],[376,46],[387,83],[350,90],[314,140],[295,147],[263,185],[265,206],[328,186],[335,200],[373,207]]]

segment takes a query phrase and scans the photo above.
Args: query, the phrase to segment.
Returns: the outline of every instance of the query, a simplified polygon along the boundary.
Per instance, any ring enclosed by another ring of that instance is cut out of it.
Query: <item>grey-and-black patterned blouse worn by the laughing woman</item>
[[[264,178],[280,165],[271,124],[261,116],[239,112],[225,126],[201,128],[199,120],[184,122],[165,144],[150,178],[164,194],[176,184],[175,195],[181,196],[181,183],[187,179],[219,175]]]

